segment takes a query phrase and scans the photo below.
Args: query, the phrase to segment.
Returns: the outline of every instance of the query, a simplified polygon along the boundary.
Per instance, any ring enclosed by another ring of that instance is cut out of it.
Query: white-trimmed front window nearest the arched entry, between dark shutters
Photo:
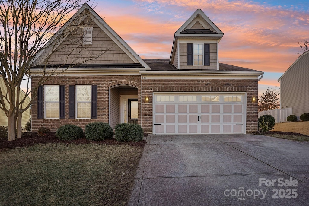
[[[91,119],[91,85],[76,85],[76,119]]]

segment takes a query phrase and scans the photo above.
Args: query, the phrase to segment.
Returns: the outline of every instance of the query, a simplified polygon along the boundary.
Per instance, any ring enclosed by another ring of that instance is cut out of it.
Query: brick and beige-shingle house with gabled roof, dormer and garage
[[[39,126],[55,131],[64,124],[85,128],[94,121],[112,128],[138,123],[148,134],[257,130],[257,101],[252,99],[263,72],[219,63],[223,33],[200,9],[176,31],[170,59],[144,60],[87,4],[78,12],[85,10],[92,22],[83,29],[92,34],[84,37],[92,44],[84,55],[113,46],[40,86],[32,104],[34,131]],[[45,55],[53,59],[50,67],[74,60],[61,51]],[[39,67],[32,68],[32,85],[38,75]]]

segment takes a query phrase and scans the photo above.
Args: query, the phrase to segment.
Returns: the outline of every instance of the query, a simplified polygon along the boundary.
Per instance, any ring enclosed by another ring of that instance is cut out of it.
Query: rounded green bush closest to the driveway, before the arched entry
[[[117,141],[142,141],[144,131],[139,124],[125,123],[115,128],[115,139]]]

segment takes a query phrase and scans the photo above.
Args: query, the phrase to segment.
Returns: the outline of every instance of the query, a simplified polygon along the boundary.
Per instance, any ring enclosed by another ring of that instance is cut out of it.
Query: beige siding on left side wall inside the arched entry
[[[119,88],[110,90],[110,126],[114,128],[120,122],[119,117]]]

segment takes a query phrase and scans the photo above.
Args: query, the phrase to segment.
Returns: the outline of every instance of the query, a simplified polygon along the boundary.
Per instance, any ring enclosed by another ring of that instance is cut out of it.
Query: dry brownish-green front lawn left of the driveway
[[[125,205],[143,146],[36,144],[0,151],[0,205]]]

